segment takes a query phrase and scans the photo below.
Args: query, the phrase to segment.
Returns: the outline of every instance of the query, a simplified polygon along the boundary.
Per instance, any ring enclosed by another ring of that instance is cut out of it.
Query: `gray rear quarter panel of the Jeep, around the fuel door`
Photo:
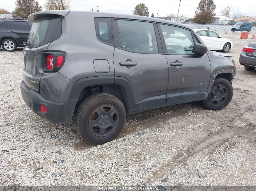
[[[63,51],[66,60],[59,72],[74,83],[92,76],[114,76],[114,46],[100,42],[96,37],[94,15],[72,12],[62,19],[62,35],[48,46],[48,51]],[[93,61],[108,60],[110,71],[96,73]]]

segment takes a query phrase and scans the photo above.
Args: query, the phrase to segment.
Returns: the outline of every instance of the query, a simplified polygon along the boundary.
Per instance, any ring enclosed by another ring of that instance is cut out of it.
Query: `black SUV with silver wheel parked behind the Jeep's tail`
[[[32,22],[24,19],[0,20],[0,45],[5,51],[15,51],[17,47],[24,47]]]

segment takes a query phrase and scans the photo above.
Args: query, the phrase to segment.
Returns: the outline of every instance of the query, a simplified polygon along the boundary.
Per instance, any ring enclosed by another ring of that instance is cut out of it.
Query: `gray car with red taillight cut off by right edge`
[[[244,65],[246,70],[254,70],[256,68],[256,41],[244,46],[239,57],[239,63]]]

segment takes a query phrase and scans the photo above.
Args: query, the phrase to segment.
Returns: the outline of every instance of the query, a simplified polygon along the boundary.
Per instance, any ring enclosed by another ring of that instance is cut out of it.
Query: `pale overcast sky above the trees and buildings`
[[[241,1],[238,0],[213,1],[217,5],[216,15],[220,15],[221,9],[227,5],[230,5],[234,8],[240,8],[239,12],[244,12],[248,16],[256,16],[256,7],[252,6],[251,3],[241,3]],[[15,0],[0,0],[0,2],[0,8],[5,8],[11,12],[15,9]],[[45,0],[38,0],[38,2],[39,5],[43,7]],[[93,8],[93,10],[95,11],[97,10],[97,6],[99,6],[99,10],[102,12],[107,12],[108,10],[110,10],[110,12],[113,13],[131,14],[131,10],[133,10],[135,5],[139,3],[145,3],[145,5],[148,7],[149,14],[151,15],[152,12],[154,12],[155,17],[157,16],[157,9],[159,9],[159,17],[166,17],[168,13],[178,13],[178,0],[71,0],[70,10],[91,11],[91,8]],[[193,18],[198,3],[199,0],[181,0],[179,16],[181,14],[183,16]]]

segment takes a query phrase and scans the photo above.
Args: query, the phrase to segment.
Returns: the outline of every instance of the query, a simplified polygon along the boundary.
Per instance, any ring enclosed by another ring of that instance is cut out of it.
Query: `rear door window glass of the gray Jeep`
[[[117,20],[122,48],[134,53],[158,53],[153,23]]]

